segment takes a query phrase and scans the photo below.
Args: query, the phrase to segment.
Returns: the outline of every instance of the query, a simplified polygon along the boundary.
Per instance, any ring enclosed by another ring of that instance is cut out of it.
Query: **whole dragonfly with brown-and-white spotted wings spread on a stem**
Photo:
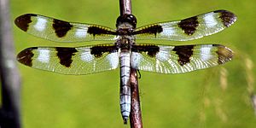
[[[85,75],[120,68],[120,109],[126,124],[131,113],[131,68],[152,73],[187,73],[222,65],[233,51],[222,44],[137,44],[136,40],[188,41],[224,30],[236,21],[227,10],[215,10],[183,20],[137,27],[134,15],[119,15],[116,29],[26,14],[15,19],[22,31],[54,42],[109,41],[81,47],[31,47],[17,61],[54,73]]]

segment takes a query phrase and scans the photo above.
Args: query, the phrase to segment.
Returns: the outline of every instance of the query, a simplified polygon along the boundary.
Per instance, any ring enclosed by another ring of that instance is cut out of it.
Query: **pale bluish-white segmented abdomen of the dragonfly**
[[[130,52],[120,52],[120,108],[126,124],[131,112]]]

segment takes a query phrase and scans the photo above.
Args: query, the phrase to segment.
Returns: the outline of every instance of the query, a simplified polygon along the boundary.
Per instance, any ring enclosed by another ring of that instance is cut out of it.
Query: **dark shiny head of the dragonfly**
[[[129,24],[131,25],[132,29],[134,29],[137,25],[137,19],[134,15],[120,15],[119,18],[116,20],[116,27],[124,24]]]

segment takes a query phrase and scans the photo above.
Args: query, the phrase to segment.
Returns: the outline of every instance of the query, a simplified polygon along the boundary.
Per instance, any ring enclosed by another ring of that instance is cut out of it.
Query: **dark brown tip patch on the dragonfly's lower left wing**
[[[22,51],[17,55],[17,61],[20,63],[32,67],[32,57],[34,54],[32,53],[33,49],[38,49],[37,47],[32,47],[32,48],[27,48]]]

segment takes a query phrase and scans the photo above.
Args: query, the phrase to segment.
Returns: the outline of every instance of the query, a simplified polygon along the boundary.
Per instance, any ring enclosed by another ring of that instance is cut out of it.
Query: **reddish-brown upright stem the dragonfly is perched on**
[[[131,0],[119,0],[120,15],[131,14]],[[142,113],[140,108],[140,96],[138,91],[137,70],[131,68],[131,128],[142,128]]]

